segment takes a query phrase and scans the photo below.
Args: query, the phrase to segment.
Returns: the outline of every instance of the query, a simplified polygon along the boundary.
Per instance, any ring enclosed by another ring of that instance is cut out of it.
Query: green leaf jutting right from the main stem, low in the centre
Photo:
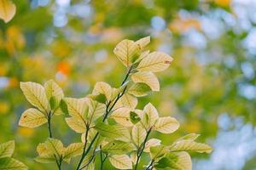
[[[103,122],[96,123],[95,129],[103,136],[109,139],[119,139],[129,141],[131,139],[129,130],[120,125],[107,125]]]

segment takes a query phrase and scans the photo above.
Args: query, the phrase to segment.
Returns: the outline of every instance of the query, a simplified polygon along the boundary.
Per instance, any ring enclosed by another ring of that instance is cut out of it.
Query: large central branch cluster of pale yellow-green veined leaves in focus
[[[137,98],[150,91],[159,91],[160,85],[153,72],[164,71],[172,57],[161,52],[145,50],[150,37],[137,42],[123,40],[113,53],[125,67],[127,74],[119,88],[106,82],[96,82],[92,93],[82,99],[64,97],[61,88],[50,80],[44,87],[35,82],[20,82],[31,108],[20,117],[20,126],[49,127],[49,139],[38,144],[36,161],[56,162],[61,169],[63,161],[80,156],[77,169],[95,169],[96,155],[100,155],[101,169],[107,159],[118,169],[137,169],[143,153],[150,155],[146,169],[191,169],[186,151],[211,152],[207,144],[196,143],[197,134],[189,134],[171,145],[160,144],[160,139],[149,139],[152,131],[173,133],[179,127],[171,116],[159,117],[154,105],[136,109]],[[51,117],[65,113],[67,125],[81,133],[82,142],[65,148],[51,132]]]

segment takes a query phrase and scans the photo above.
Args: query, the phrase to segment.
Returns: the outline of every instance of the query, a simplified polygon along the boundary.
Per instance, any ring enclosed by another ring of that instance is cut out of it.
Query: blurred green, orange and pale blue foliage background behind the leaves
[[[125,67],[114,46],[148,35],[150,50],[174,60],[157,74],[160,93],[139,99],[138,108],[150,101],[161,116],[181,123],[176,133],[152,137],[168,144],[200,133],[199,141],[212,144],[214,151],[192,154],[195,170],[256,169],[255,0],[13,2],[15,18],[8,24],[0,20],[0,143],[15,139],[14,157],[31,169],[53,165],[33,161],[47,127],[18,127],[22,111],[31,107],[19,82],[55,79],[66,96],[75,98],[89,94],[98,81],[118,86]],[[64,144],[80,140],[64,116],[55,116],[53,131]]]

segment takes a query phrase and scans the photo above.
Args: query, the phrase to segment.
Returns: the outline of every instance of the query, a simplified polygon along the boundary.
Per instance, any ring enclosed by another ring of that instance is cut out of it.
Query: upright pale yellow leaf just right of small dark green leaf
[[[151,103],[148,103],[148,105],[145,105],[143,111],[145,112],[144,116],[148,116],[147,119],[144,119],[143,124],[145,124],[147,127],[154,126],[154,123],[159,118],[158,111],[155,109],[154,105]],[[147,122],[145,122],[147,121]]]

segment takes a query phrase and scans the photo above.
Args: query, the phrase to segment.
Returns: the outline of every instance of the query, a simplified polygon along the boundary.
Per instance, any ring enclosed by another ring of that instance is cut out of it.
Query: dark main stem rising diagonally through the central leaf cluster
[[[128,69],[128,71],[127,71],[127,73],[126,73],[126,75],[125,75],[125,78],[124,78],[124,80],[123,80],[122,83],[121,83],[121,86],[123,86],[123,85],[125,84],[125,82],[127,81],[128,77],[130,76],[130,74],[131,74],[131,69],[132,69],[132,65],[131,65],[131,67]],[[109,105],[111,104],[111,101],[108,102],[108,104],[107,104],[107,109],[106,109],[106,112],[105,112],[105,115],[104,115],[104,117],[103,117],[102,122],[105,122],[105,121],[106,121],[106,119],[108,118],[109,113],[113,110],[114,105],[116,105],[116,103],[118,102],[118,100],[125,94],[126,88],[127,88],[127,87],[125,87],[124,90],[123,90],[123,92],[121,92],[121,93],[117,96],[117,98],[113,101],[113,105],[111,105],[111,107],[109,108],[109,110],[108,110],[108,107],[109,107]],[[81,169],[80,166],[81,166],[82,162],[84,161],[84,157],[87,156],[87,154],[89,153],[89,151],[90,151],[92,145],[94,144],[94,142],[96,141],[96,138],[98,137],[98,135],[99,135],[99,133],[96,133],[96,135],[94,136],[94,138],[93,138],[92,141],[90,142],[90,145],[88,146],[87,150],[85,150],[85,151],[83,152],[83,154],[82,154],[82,156],[81,156],[81,158],[80,158],[80,161],[79,161],[79,164],[78,164],[76,170]],[[82,167],[82,168],[84,168],[84,167]]]

